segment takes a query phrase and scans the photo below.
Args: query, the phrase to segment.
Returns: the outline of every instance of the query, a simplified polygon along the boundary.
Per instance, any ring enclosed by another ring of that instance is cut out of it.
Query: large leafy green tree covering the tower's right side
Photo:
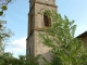
[[[80,39],[74,37],[74,21],[69,21],[66,15],[63,18],[54,11],[46,12],[52,24],[39,35],[53,53],[51,65],[87,65],[87,49]]]

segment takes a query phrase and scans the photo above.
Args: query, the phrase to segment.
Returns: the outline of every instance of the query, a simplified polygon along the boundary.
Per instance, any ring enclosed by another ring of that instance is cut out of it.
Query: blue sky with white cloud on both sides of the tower
[[[70,21],[74,20],[77,25],[75,37],[87,30],[87,0],[55,0],[58,13],[66,15]],[[28,23],[29,2],[28,0],[14,0],[8,5],[5,16],[7,28],[10,28],[14,36],[5,47],[7,52],[12,52],[14,56],[26,54],[26,38]]]

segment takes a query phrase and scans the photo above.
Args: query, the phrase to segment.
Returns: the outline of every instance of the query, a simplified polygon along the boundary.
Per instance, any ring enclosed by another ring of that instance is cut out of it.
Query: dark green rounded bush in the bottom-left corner
[[[20,65],[18,58],[12,56],[12,53],[5,52],[0,55],[0,65]]]

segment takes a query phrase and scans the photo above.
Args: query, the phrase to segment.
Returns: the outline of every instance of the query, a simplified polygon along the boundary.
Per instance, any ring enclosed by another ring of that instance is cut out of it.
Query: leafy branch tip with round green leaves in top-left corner
[[[2,16],[3,11],[8,10],[8,4],[11,2],[12,0],[0,0],[0,16]]]

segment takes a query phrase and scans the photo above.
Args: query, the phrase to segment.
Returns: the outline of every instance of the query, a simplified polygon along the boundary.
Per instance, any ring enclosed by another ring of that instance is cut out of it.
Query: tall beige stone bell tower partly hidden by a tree
[[[41,28],[51,25],[51,21],[44,14],[40,14],[47,9],[57,11],[55,0],[29,0],[26,54],[33,54],[34,56],[42,54],[49,61],[50,49],[40,42],[38,36],[39,32],[42,32]]]

